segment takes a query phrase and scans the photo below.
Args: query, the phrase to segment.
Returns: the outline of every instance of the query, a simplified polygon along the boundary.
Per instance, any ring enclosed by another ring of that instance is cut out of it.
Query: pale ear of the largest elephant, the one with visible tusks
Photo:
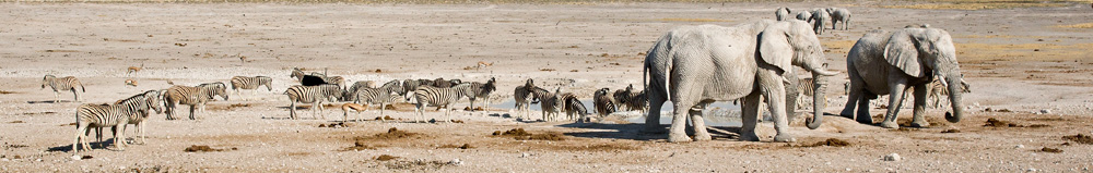
[[[783,72],[792,70],[794,47],[789,45],[789,34],[785,26],[788,23],[777,23],[766,27],[760,34],[759,52],[762,60],[777,66]]]

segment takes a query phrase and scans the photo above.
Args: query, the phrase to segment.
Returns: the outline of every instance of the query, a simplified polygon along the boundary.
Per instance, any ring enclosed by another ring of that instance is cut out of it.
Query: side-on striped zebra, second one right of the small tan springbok
[[[451,88],[439,88],[434,86],[418,87],[418,90],[414,90],[413,92],[413,97],[416,99],[416,103],[414,103],[414,113],[416,115],[414,116],[414,122],[424,120],[425,107],[436,107],[437,109],[443,107],[444,115],[448,121],[450,121],[451,109],[448,107],[463,98],[470,87],[470,84],[459,84],[453,86]]]

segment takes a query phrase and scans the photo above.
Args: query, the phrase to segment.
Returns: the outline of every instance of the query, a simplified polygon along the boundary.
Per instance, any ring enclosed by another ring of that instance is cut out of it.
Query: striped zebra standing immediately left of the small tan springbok
[[[324,84],[317,86],[294,85],[289,87],[289,89],[285,89],[284,94],[282,95],[289,96],[290,119],[296,120],[296,102],[301,102],[301,103],[312,103],[312,118],[316,118],[315,111],[317,108],[319,111],[319,115],[321,115],[322,119],[326,120],[327,116],[322,114],[324,99],[329,100],[331,102],[337,101],[338,97],[344,96],[344,91],[345,90],[342,90],[341,87],[333,84]]]

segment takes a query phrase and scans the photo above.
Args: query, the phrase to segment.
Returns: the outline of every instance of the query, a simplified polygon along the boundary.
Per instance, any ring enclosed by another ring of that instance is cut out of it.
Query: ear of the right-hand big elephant
[[[921,61],[918,55],[918,40],[910,36],[906,30],[900,30],[892,35],[888,44],[884,46],[884,60],[889,64],[892,64],[903,73],[914,77],[926,76],[926,70],[922,67]]]

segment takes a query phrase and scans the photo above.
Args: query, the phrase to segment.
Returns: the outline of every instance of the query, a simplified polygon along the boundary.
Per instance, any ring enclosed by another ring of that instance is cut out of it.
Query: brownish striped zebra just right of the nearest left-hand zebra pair
[[[197,120],[193,113],[195,108],[199,108],[200,112],[204,112],[205,103],[212,101],[215,96],[220,96],[224,100],[227,100],[226,90],[227,87],[224,83],[220,82],[201,84],[196,87],[181,85],[172,86],[163,94],[163,100],[167,106],[167,120],[177,119],[174,116],[175,106],[177,104],[190,106],[190,120]]]

